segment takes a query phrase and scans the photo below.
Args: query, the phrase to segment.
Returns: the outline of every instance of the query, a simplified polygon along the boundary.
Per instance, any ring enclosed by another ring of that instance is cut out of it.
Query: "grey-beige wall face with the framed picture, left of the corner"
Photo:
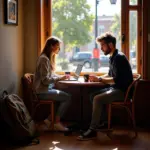
[[[0,90],[20,93],[24,64],[23,0],[19,0],[18,26],[4,24],[3,0],[0,0]]]

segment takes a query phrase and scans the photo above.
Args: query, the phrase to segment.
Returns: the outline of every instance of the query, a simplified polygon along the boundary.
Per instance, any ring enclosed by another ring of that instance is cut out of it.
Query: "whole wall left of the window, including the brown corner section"
[[[19,0],[18,26],[4,24],[0,0],[0,90],[21,94],[20,79],[34,72],[38,49],[37,0]]]

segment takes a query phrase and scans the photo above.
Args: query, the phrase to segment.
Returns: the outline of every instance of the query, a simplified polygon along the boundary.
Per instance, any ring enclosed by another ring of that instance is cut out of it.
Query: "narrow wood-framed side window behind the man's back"
[[[141,0],[130,0],[127,10],[125,42],[133,72],[142,73],[142,19]],[[128,21],[129,20],[129,21]],[[129,30],[127,30],[129,28]],[[127,33],[128,32],[128,33]]]

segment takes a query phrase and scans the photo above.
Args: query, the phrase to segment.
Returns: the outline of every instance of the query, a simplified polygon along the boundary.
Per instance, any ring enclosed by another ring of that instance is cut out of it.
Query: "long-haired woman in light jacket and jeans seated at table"
[[[54,73],[55,71],[55,56],[60,51],[60,39],[57,37],[50,37],[47,39],[44,49],[39,56],[36,64],[35,78],[34,78],[34,88],[37,92],[37,96],[43,100],[54,100],[59,103],[59,107],[56,110],[55,114],[55,130],[66,131],[61,123],[60,119],[66,112],[70,101],[71,96],[68,93],[65,93],[60,90],[52,89],[53,85],[60,81],[65,80],[67,77],[59,77]],[[47,127],[50,127],[50,120],[44,120]]]

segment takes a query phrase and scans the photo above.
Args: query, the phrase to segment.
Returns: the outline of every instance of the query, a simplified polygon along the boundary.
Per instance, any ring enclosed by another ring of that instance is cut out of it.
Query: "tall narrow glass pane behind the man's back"
[[[129,29],[129,48],[130,48],[130,63],[133,72],[137,72],[137,11],[130,11],[130,29]]]

